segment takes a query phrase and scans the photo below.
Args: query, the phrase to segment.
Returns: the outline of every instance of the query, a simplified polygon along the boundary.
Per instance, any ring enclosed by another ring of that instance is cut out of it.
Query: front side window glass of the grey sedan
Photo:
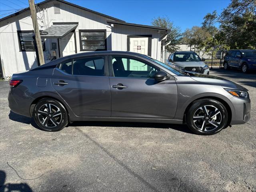
[[[159,69],[134,58],[112,56],[115,77],[154,78]]]

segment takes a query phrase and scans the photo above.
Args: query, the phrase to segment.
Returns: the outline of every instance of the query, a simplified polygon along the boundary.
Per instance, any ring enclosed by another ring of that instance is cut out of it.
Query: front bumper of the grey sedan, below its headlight
[[[234,106],[230,124],[244,124],[248,122],[251,118],[251,100],[233,97],[230,101]]]

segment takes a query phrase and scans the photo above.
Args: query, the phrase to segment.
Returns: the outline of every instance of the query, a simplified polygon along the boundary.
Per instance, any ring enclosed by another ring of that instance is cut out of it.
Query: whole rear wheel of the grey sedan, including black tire
[[[44,131],[59,131],[68,124],[68,112],[57,100],[44,98],[38,101],[33,111],[33,118]]]

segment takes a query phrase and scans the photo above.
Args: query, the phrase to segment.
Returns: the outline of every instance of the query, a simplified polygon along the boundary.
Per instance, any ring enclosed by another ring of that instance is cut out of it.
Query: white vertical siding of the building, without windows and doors
[[[54,14],[54,4],[60,4],[60,14]],[[106,20],[110,20],[109,18],[58,1],[40,6],[37,16],[42,18],[38,20],[40,30],[52,26],[53,22],[78,22],[76,28],[78,53],[84,52],[80,51],[79,30],[103,29],[106,30],[107,50],[127,51],[127,35],[152,35],[151,54],[153,58],[160,60],[161,42],[159,40],[160,33],[157,30],[120,25],[111,28],[106,22]],[[38,66],[35,52],[20,51],[17,30],[33,30],[30,11],[0,22],[0,54],[5,76],[12,76],[15,72]],[[44,52],[46,62],[49,61],[51,42],[57,43],[57,39],[46,40],[46,51]],[[56,56],[58,58],[58,50],[56,50]]]

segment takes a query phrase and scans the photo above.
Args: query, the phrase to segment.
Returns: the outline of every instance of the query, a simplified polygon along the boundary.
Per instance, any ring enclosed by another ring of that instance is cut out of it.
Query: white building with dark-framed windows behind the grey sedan
[[[166,28],[126,23],[64,0],[36,4],[45,62],[86,51],[118,50],[161,60]],[[0,19],[0,74],[38,66],[30,9]]]

